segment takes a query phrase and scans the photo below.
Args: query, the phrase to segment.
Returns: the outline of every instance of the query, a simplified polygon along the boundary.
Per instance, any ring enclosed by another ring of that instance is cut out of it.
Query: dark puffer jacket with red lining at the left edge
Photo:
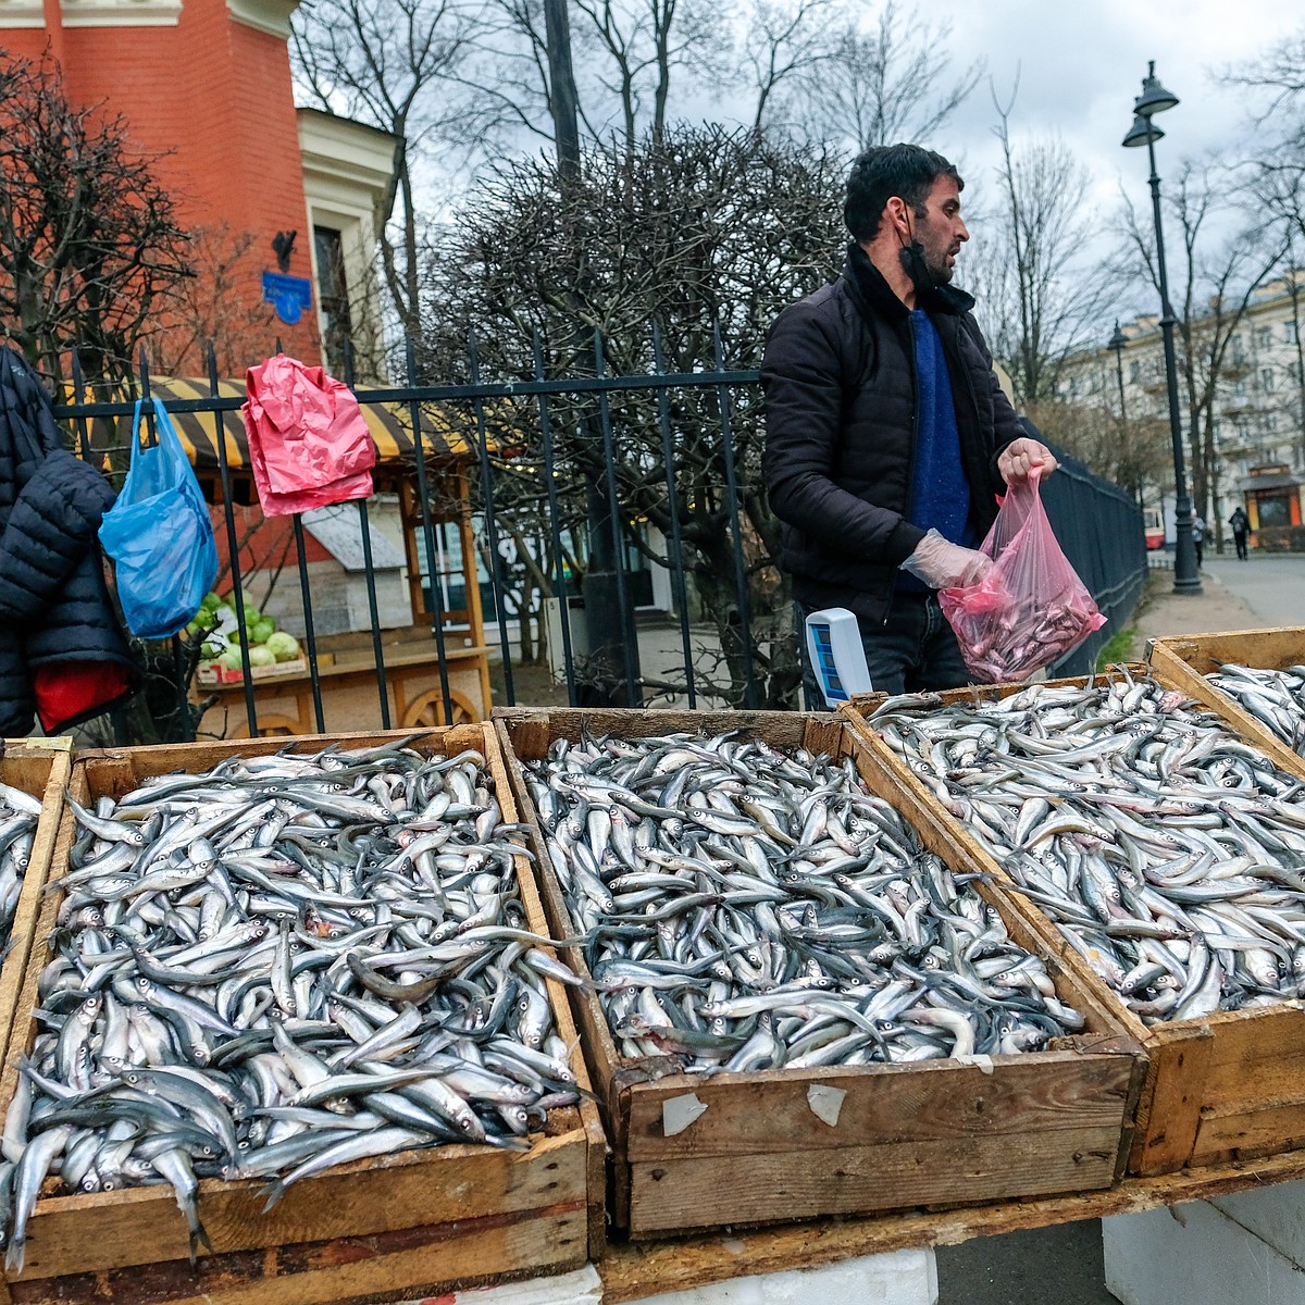
[[[0,736],[47,733],[132,692],[95,545],[114,491],[63,446],[26,363],[0,350]]]

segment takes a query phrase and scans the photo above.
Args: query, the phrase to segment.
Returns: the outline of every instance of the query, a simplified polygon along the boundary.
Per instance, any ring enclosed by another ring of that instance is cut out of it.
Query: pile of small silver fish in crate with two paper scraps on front
[[[850,761],[676,733],[559,740],[526,769],[625,1056],[860,1065],[1083,1027]]]

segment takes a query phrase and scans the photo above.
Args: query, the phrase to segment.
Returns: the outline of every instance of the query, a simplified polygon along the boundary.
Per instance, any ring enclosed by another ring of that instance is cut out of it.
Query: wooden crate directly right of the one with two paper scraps
[[[1146,667],[1131,667],[1146,671]],[[1158,675],[1165,683],[1163,675]],[[1049,685],[1084,684],[1083,677]],[[940,694],[944,701],[996,699],[1024,685],[980,685]],[[902,809],[919,829],[951,843],[955,855],[981,867],[998,897],[1009,876],[867,723],[881,702],[857,697],[842,713],[868,744],[864,765],[878,783],[900,793]],[[1221,1164],[1305,1146],[1305,1006],[1285,1001],[1249,1011],[1219,1011],[1199,1019],[1144,1024],[1073,950],[1057,927],[1026,897],[1010,893],[1021,915],[1146,1049],[1148,1069],[1137,1111],[1128,1172],[1152,1176],[1189,1165]]]

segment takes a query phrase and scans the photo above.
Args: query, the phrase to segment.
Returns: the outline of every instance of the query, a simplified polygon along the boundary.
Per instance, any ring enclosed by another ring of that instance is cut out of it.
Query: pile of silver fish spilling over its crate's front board
[[[12,1232],[63,1190],[202,1176],[268,1205],[339,1164],[442,1142],[527,1150],[576,1100],[484,758],[407,740],[146,780],[78,838],[40,1031],[0,1139]]]

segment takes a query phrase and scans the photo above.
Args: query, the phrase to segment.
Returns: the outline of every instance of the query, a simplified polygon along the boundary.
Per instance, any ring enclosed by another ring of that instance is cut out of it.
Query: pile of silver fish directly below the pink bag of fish
[[[1305,997],[1305,784],[1148,677],[870,726],[1147,1023]]]

